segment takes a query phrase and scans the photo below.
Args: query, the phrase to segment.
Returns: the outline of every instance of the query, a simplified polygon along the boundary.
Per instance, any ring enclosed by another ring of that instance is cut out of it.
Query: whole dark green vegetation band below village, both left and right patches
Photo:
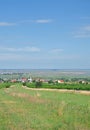
[[[11,82],[5,82],[5,83],[0,83],[0,88],[9,88],[11,85],[18,84],[16,83],[11,83]],[[69,90],[88,90],[90,91],[90,84],[68,84],[68,83],[53,83],[50,81],[50,83],[43,83],[41,81],[36,81],[36,82],[24,82],[24,83],[19,83],[20,85],[27,86],[29,88],[51,88],[51,89],[69,89]]]

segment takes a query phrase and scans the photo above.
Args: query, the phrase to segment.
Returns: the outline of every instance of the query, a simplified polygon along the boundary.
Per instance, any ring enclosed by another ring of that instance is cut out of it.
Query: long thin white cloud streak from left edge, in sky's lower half
[[[0,47],[1,51],[9,52],[39,52],[40,49],[37,47],[23,47],[23,48],[11,48],[11,47]]]

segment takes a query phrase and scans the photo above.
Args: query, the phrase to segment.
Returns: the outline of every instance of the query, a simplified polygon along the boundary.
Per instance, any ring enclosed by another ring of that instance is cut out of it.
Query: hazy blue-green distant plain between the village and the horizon
[[[81,69],[0,69],[0,78],[13,79],[20,77],[60,79],[60,78],[88,78],[90,80],[90,70]]]

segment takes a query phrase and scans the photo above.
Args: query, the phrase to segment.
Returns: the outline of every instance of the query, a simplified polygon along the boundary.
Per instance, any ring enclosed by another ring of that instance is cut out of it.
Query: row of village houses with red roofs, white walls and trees
[[[13,75],[13,74],[12,74]],[[3,82],[11,82],[11,83],[16,83],[16,82],[21,82],[21,83],[26,83],[26,82],[29,82],[29,83],[32,83],[32,82],[42,82],[42,83],[58,83],[58,84],[64,84],[64,83],[67,83],[67,84],[71,84],[71,83],[79,83],[79,84],[90,84],[89,81],[87,81],[87,79],[76,79],[76,80],[64,80],[64,78],[61,78],[61,79],[44,79],[44,78],[32,78],[32,77],[21,77],[21,78],[0,78],[0,83],[3,83]]]

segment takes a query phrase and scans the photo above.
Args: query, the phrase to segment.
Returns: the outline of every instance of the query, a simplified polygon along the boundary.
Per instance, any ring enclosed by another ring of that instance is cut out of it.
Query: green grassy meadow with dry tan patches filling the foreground
[[[90,96],[0,89],[0,130],[90,130]]]

